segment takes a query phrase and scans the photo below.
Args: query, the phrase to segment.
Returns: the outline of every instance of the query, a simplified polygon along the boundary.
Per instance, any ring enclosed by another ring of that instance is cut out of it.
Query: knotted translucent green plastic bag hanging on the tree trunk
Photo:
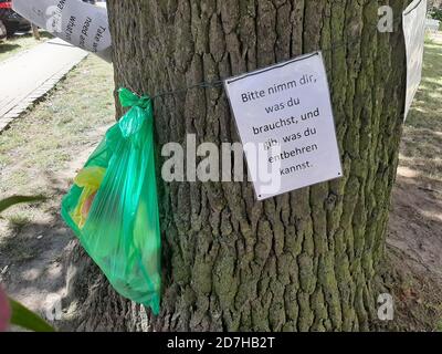
[[[123,296],[159,313],[160,230],[149,97],[131,107],[92,154],[62,201],[62,217]]]

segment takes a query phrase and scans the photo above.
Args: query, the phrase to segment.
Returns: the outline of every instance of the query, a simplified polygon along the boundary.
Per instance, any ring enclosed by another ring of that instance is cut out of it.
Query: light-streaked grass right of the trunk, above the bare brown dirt
[[[442,44],[425,43],[422,83],[407,118],[401,166],[442,183]]]

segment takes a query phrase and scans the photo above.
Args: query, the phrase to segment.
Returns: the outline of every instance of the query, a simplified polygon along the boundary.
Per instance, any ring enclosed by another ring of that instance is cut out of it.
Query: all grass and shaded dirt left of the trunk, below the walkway
[[[60,217],[61,198],[114,123],[113,87],[112,66],[88,58],[0,134],[0,198],[49,197],[1,215],[0,283],[50,319],[73,271],[64,267],[73,235]]]

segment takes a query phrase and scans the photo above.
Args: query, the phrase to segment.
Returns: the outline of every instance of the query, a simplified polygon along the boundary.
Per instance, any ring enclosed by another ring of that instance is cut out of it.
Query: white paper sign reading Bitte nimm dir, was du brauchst
[[[224,86],[259,200],[343,176],[320,52]]]

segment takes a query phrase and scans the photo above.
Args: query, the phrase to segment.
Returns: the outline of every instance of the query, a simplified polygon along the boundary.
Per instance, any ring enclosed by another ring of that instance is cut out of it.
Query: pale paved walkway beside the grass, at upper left
[[[86,55],[53,39],[0,62],[0,132]]]

